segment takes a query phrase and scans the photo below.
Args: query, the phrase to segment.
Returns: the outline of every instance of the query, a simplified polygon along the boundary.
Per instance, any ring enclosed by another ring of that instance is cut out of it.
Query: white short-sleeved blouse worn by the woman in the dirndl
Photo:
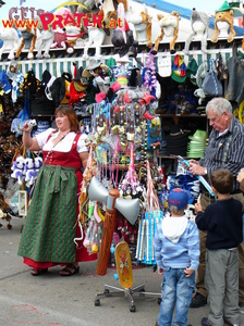
[[[73,145],[76,134],[74,131],[70,131],[62,140],[60,140],[53,147],[52,140],[54,140],[60,134],[60,131],[52,133],[53,130],[56,130],[56,129],[49,128],[46,131],[36,135],[37,142],[38,142],[39,147],[41,148],[41,150],[50,151],[53,148],[53,151],[69,152],[71,150],[71,147]],[[51,137],[49,138],[49,140],[47,142],[48,136],[50,134],[51,134]],[[88,151],[87,147],[85,145],[85,138],[86,138],[86,135],[82,134],[82,136],[78,139],[78,142],[77,142],[77,152],[78,153]]]

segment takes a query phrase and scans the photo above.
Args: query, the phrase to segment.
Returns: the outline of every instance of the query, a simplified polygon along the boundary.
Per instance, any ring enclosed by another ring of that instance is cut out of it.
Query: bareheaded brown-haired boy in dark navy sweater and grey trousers
[[[211,173],[212,192],[218,200],[202,212],[200,203],[195,204],[196,224],[207,230],[205,285],[208,290],[209,314],[202,325],[237,326],[239,308],[239,252],[243,241],[242,203],[230,197],[233,175],[229,170],[219,168]]]

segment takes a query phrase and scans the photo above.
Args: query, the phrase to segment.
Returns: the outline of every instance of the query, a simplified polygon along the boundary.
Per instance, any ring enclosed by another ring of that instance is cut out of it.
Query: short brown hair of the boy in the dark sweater
[[[227,168],[219,168],[211,173],[210,175],[211,186],[221,193],[230,193],[233,188],[234,178],[232,173]]]

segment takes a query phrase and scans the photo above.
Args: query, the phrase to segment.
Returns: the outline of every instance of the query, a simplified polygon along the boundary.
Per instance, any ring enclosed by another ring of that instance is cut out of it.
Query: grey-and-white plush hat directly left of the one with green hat
[[[191,25],[193,33],[187,37],[185,41],[184,54],[188,55],[188,48],[192,40],[200,39],[202,41],[202,52],[207,53],[207,38],[209,28],[209,17],[205,12],[198,12],[193,8],[191,16]]]

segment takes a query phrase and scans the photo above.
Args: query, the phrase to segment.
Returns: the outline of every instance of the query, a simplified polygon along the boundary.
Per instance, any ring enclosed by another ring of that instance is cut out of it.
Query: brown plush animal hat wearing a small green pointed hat
[[[234,30],[234,11],[231,9],[227,1],[223,2],[219,10],[215,13],[215,33],[211,37],[211,42],[216,43],[219,37],[227,37],[227,41],[230,43],[235,37]],[[228,30],[230,33],[228,35]]]

